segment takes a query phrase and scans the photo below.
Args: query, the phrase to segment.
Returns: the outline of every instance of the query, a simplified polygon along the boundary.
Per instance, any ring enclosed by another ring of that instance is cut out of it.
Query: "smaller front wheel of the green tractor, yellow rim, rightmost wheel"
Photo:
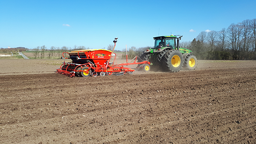
[[[197,59],[195,55],[189,54],[184,58],[184,66],[185,70],[195,70],[197,67]]]

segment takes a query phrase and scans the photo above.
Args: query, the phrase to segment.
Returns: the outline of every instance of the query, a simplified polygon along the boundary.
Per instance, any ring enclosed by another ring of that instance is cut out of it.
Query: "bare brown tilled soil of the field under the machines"
[[[256,61],[88,78],[62,61],[0,60],[1,144],[256,143]]]

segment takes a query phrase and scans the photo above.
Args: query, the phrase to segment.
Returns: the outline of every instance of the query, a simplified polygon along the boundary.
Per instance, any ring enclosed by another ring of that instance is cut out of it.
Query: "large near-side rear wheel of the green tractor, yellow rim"
[[[184,59],[181,52],[171,49],[162,58],[162,69],[166,72],[179,72],[183,67]]]

